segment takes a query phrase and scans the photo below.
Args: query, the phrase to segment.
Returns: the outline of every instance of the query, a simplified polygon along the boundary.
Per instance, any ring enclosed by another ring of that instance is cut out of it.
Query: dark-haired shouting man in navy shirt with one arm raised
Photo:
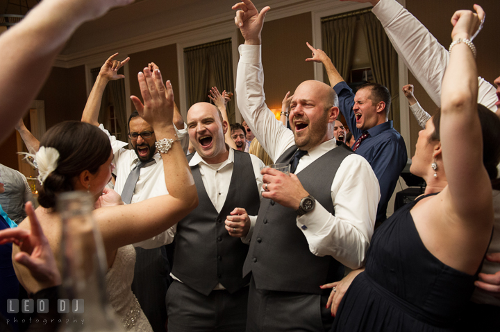
[[[387,203],[408,160],[403,137],[392,128],[392,121],[387,120],[390,92],[383,85],[367,83],[359,87],[355,96],[326,53],[308,46],[313,58],[306,61],[324,64],[330,85],[338,94],[340,112],[356,139],[352,149],[367,159],[378,179],[381,199],[376,225],[379,225],[387,218]]]

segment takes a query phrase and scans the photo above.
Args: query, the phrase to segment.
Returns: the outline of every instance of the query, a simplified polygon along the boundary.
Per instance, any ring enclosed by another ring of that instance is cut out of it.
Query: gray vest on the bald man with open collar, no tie
[[[260,195],[250,155],[235,151],[234,158],[228,195],[220,213],[206,193],[199,166],[191,167],[199,204],[177,224],[172,274],[203,295],[209,295],[217,283],[232,294],[250,281],[249,276],[242,275],[249,246],[241,238],[230,236],[224,221],[235,207],[256,216]]]

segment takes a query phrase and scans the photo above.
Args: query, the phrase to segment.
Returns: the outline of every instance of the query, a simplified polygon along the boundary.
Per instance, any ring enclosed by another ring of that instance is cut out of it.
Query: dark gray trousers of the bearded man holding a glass
[[[329,294],[259,290],[252,277],[247,332],[328,331],[333,324],[326,308]]]

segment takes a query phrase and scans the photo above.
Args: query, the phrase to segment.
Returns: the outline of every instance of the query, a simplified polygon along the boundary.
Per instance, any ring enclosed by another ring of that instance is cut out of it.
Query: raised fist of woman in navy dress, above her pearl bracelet
[[[474,10],[458,10],[451,17],[451,24],[453,24],[453,31],[451,31],[451,39],[458,40],[458,38],[465,38],[468,40],[474,39],[483,28],[484,19],[486,14],[479,5],[474,5]]]

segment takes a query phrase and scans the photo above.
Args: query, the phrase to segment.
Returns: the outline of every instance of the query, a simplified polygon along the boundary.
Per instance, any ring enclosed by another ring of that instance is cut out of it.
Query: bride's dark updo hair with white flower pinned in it
[[[47,209],[56,206],[58,193],[74,190],[75,177],[83,171],[95,174],[111,153],[108,136],[96,126],[80,121],[54,125],[42,137],[40,146],[59,152],[56,170],[47,176],[38,193],[38,202]]]

